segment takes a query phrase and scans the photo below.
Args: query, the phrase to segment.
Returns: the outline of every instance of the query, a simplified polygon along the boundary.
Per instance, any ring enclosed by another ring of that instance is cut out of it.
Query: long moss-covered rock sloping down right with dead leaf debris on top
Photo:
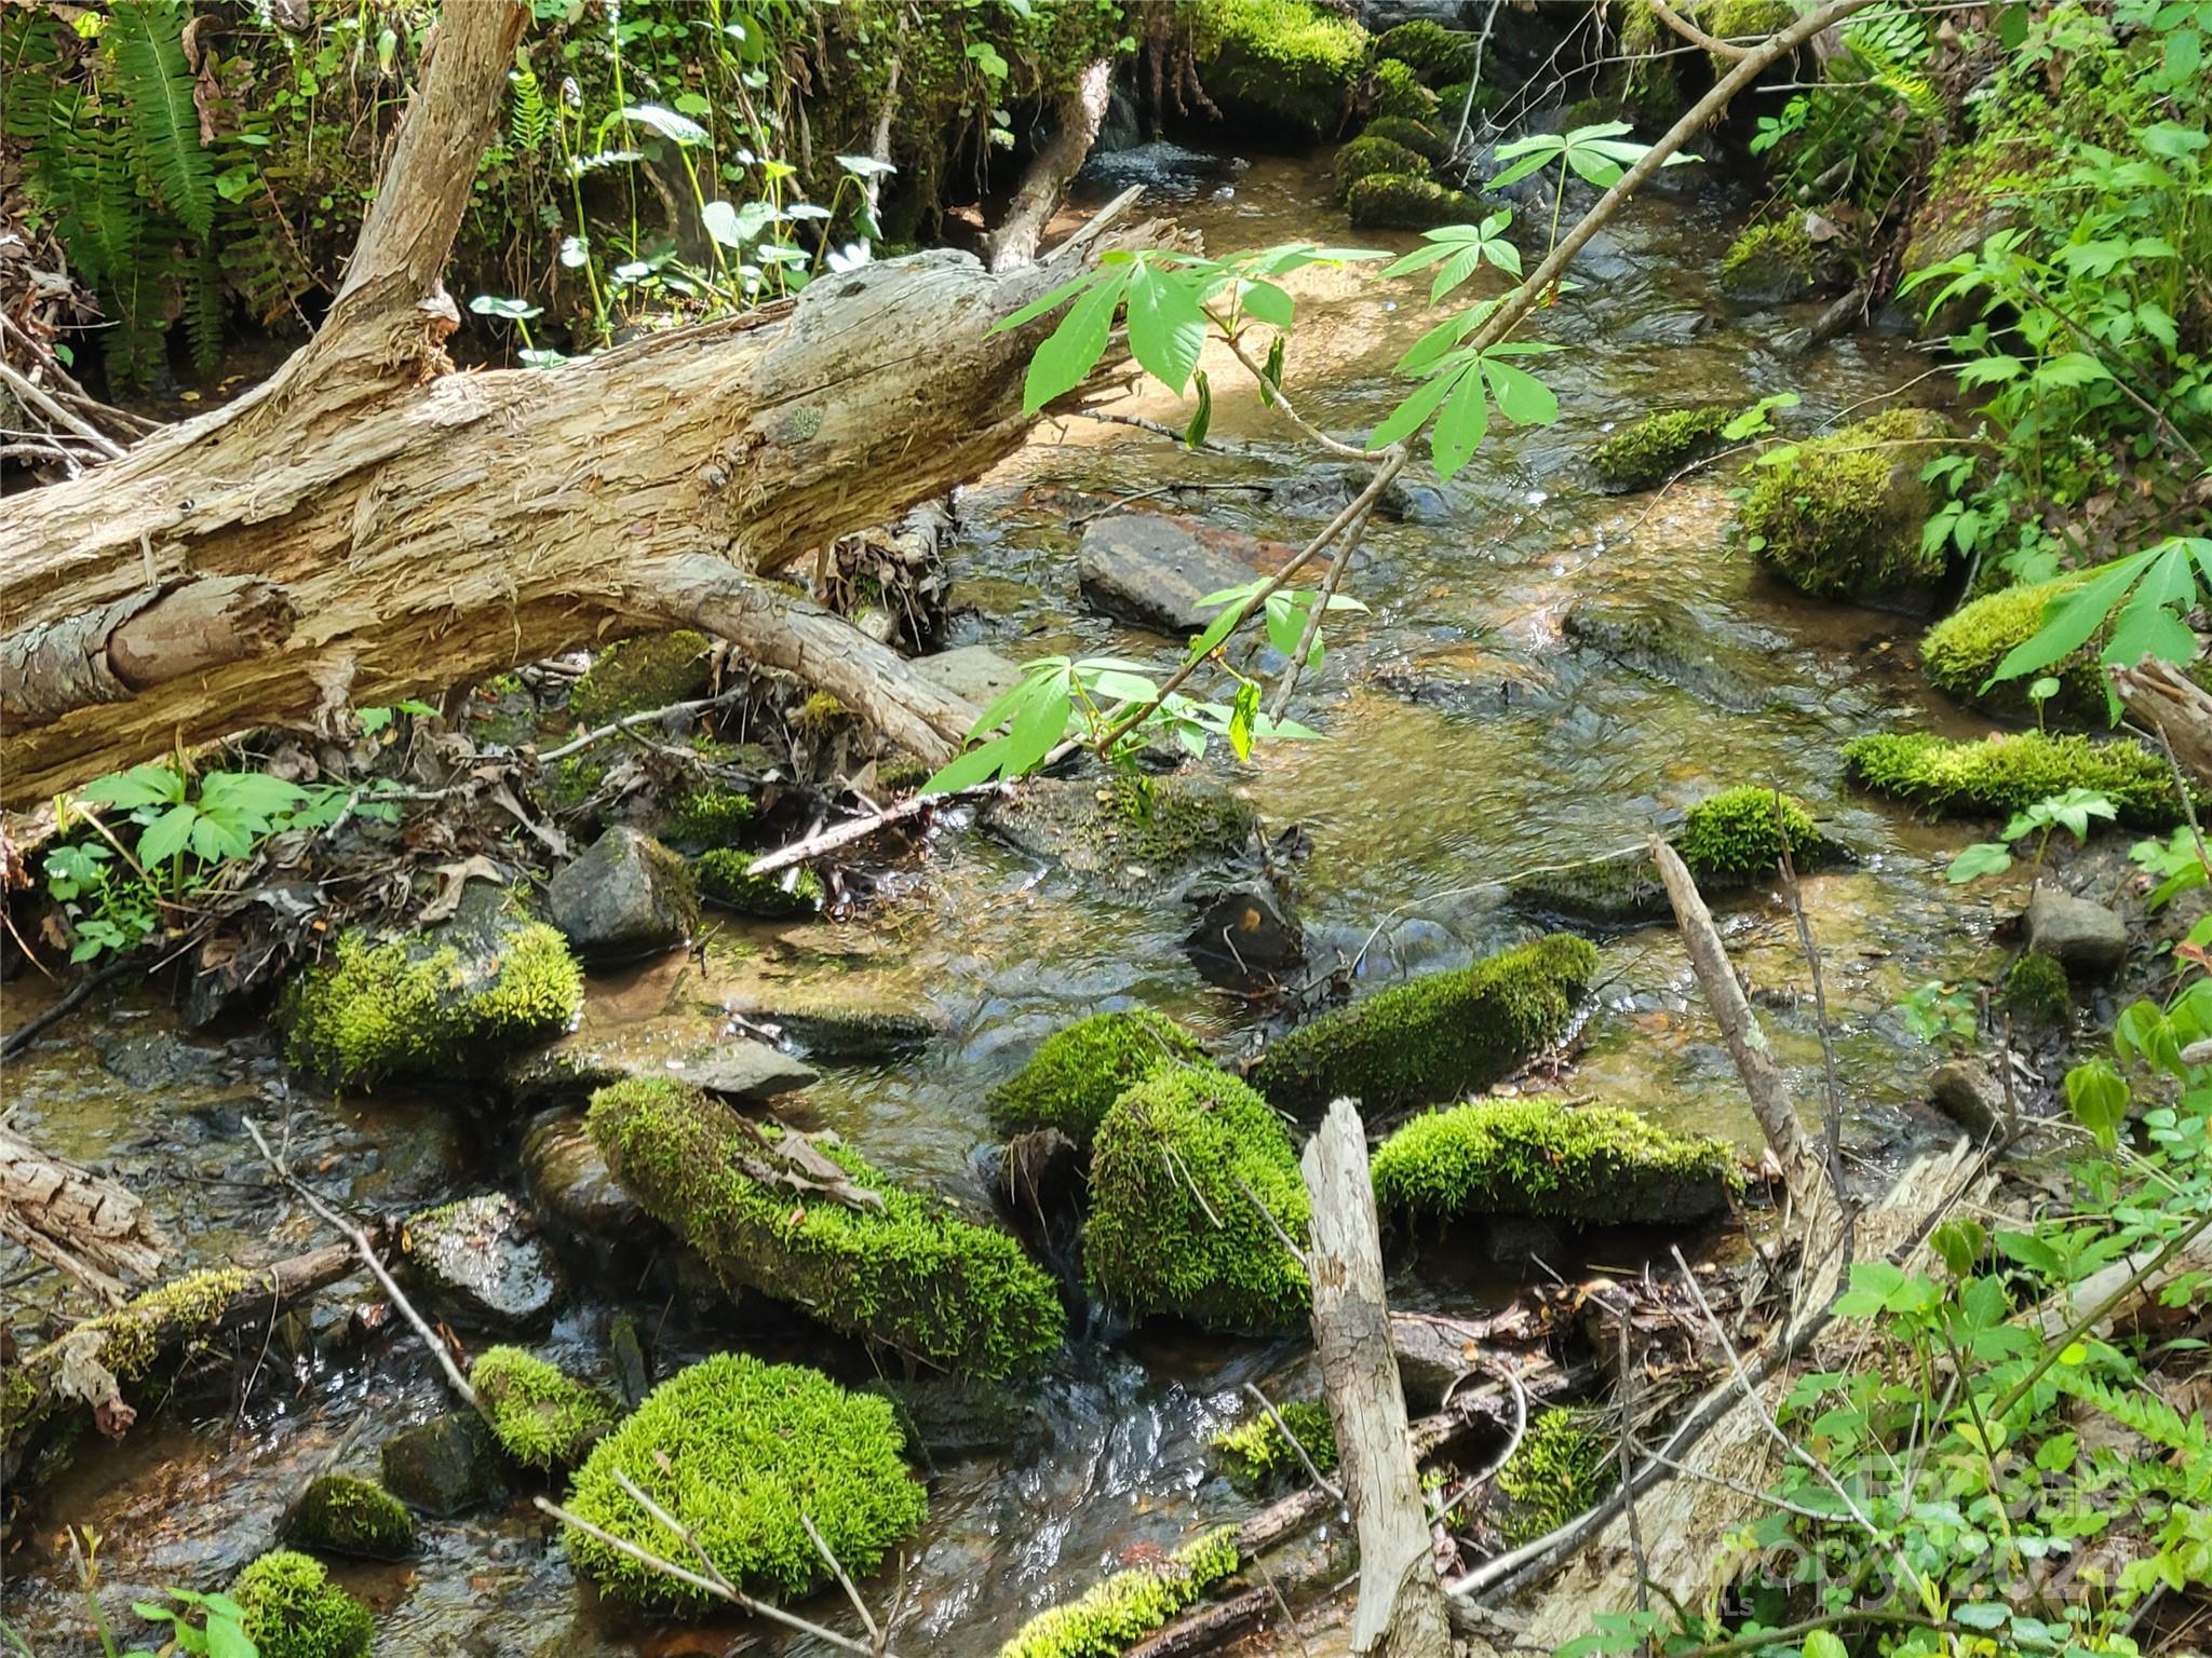
[[[814,1150],[883,1207],[763,1185],[783,1130],[650,1077],[591,1096],[591,1138],[646,1214],[672,1227],[732,1289],[805,1309],[834,1331],[925,1364],[1009,1375],[1053,1353],[1066,1318],[1053,1280],[1009,1234],[885,1180],[854,1152]]]

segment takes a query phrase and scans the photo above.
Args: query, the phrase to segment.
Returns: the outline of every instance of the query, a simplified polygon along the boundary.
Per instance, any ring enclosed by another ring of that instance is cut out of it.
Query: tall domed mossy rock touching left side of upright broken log
[[[1137,1318],[1281,1329],[1305,1318],[1312,1289],[1276,1227],[1303,1245],[1310,1216],[1298,1150],[1267,1101],[1212,1066],[1161,1066],[1099,1123],[1084,1273]]]

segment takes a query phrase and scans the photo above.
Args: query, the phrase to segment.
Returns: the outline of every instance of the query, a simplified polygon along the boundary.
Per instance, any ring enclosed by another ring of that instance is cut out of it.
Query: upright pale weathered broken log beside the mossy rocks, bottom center
[[[1336,1457],[1360,1536],[1360,1598],[1352,1651],[1431,1658],[1451,1651],[1451,1620],[1429,1550],[1420,1472],[1407,1446],[1405,1395],[1383,1300],[1383,1238],[1367,1130],[1347,1099],[1301,1158],[1314,1205],[1307,1276],[1314,1282],[1314,1346],[1336,1426]]]

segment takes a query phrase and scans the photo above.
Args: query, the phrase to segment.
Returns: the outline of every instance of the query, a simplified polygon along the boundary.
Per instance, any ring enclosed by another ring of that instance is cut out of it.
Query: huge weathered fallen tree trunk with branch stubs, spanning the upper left
[[[721,632],[922,758],[958,747],[964,703],[752,573],[1013,451],[1051,321],[991,327],[1099,237],[1004,279],[918,254],[591,360],[453,374],[438,272],[524,20],[447,11],[314,340],[7,504],[0,805],[657,626]]]

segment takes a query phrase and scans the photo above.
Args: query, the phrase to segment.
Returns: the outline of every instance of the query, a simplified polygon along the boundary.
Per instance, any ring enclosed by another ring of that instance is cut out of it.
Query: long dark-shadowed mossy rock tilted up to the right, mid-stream
[[[1338,1094],[1369,1116],[1458,1099],[1555,1041],[1593,973],[1595,946],[1571,933],[1429,973],[1281,1037],[1252,1085],[1287,1112]]]

